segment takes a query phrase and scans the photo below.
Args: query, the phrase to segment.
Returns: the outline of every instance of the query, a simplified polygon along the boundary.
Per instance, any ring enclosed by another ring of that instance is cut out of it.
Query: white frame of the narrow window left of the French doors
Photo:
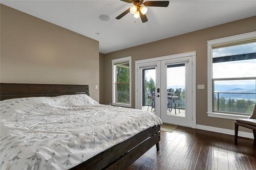
[[[116,102],[116,70],[114,67],[115,63],[121,63],[121,62],[129,62],[129,69],[130,69],[130,102],[129,104],[124,103],[117,103]],[[121,106],[121,107],[132,107],[132,57],[123,57],[112,60],[112,105],[113,106]]]

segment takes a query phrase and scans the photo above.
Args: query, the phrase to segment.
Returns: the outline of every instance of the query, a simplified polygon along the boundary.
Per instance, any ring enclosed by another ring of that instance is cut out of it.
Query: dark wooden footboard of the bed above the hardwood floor
[[[71,169],[123,169],[155,144],[159,151],[160,126],[148,128]]]

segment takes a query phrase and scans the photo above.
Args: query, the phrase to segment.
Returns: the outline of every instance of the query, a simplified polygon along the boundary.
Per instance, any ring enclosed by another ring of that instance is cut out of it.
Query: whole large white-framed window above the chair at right
[[[256,37],[242,39],[243,35],[232,36],[236,41],[230,42],[227,37],[219,44],[212,43],[218,40],[208,44],[208,115],[238,118],[252,113],[256,101]]]

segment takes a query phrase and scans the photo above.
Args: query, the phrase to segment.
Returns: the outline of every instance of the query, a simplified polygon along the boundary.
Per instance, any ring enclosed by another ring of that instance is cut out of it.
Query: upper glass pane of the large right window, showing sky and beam
[[[215,48],[212,57],[214,79],[256,77],[256,42]]]

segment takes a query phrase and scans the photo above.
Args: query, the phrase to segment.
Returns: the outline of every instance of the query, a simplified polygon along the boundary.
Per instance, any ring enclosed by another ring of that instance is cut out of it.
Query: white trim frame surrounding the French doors
[[[183,58],[183,57],[192,57],[192,117],[191,117],[191,127],[196,128],[196,56],[197,52],[187,52],[174,54],[169,56],[155,57],[144,60],[135,61],[135,108],[138,109],[138,70],[140,64],[146,64],[151,62],[157,62],[162,60]]]

